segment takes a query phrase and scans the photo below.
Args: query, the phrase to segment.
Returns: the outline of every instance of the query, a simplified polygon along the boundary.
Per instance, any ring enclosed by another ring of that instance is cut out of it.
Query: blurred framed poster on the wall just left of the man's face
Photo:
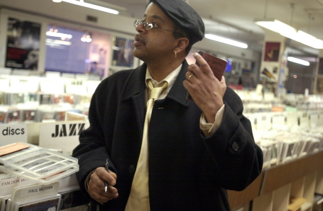
[[[133,67],[134,65],[134,41],[126,38],[114,37],[113,57],[112,65],[113,66],[123,66],[123,67]]]

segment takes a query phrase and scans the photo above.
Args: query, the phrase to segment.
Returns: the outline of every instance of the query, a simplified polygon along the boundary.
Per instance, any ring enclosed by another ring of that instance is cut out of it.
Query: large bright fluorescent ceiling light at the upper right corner
[[[309,35],[301,30],[296,30],[295,28],[287,25],[276,19],[255,19],[255,23],[263,28],[269,29],[271,31],[277,32],[278,34],[295,40],[304,45],[310,46],[315,49],[323,49],[323,41],[317,39],[316,37]]]

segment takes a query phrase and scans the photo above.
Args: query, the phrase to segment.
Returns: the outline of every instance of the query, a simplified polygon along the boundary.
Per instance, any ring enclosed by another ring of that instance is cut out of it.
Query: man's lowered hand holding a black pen
[[[116,184],[117,175],[109,170],[107,172],[104,167],[98,167],[92,173],[88,183],[87,192],[92,199],[100,204],[119,196],[118,190],[113,187]],[[104,181],[108,182],[108,190],[105,193]]]

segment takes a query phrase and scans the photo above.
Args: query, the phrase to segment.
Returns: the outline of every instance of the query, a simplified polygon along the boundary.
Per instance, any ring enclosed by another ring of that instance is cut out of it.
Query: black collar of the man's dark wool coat
[[[166,96],[166,99],[172,99],[183,106],[189,105],[189,101],[186,100],[187,90],[183,86],[183,81],[186,79],[187,67],[188,63],[185,59],[174,85]],[[122,92],[122,100],[131,99],[133,96],[145,92],[146,69],[147,64],[144,63],[130,73]]]

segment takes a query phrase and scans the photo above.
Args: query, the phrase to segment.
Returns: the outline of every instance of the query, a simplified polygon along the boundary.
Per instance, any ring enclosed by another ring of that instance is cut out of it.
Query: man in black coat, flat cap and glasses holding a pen
[[[74,150],[81,190],[106,211],[229,211],[225,189],[249,185],[261,172],[262,152],[224,77],[216,79],[198,53],[202,70],[185,60],[203,39],[202,19],[183,0],[152,0],[135,26],[133,53],[145,63],[95,91],[90,127]],[[147,120],[151,84],[167,88]]]

